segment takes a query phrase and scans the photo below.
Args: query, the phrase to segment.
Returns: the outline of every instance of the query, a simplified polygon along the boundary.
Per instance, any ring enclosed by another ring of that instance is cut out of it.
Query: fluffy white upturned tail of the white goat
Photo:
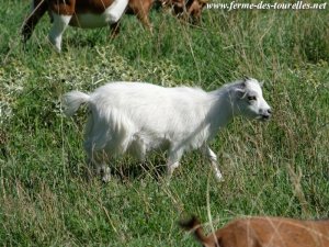
[[[64,94],[61,100],[64,114],[66,116],[72,116],[80,105],[88,103],[89,100],[90,96],[79,91],[71,91]]]

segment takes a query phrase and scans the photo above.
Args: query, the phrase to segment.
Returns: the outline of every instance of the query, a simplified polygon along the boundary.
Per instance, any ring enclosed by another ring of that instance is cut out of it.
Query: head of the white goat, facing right
[[[236,85],[235,112],[250,119],[266,121],[271,116],[271,108],[263,98],[262,83],[252,78],[246,78]]]

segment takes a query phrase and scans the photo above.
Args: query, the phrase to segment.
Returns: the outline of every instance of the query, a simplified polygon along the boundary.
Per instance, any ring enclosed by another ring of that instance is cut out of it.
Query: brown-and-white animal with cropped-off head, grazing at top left
[[[68,25],[82,29],[116,25],[127,7],[150,29],[148,13],[152,2],[154,0],[32,0],[32,12],[22,27],[23,41],[31,37],[46,11],[53,20],[49,41],[58,52],[61,49],[61,35]]]

